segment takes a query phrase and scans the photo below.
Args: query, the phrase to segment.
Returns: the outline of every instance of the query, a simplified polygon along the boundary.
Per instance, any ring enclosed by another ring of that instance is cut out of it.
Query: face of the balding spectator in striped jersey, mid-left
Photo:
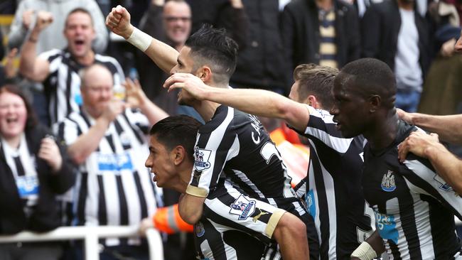
[[[87,71],[85,82],[82,84],[84,84],[81,90],[85,110],[92,117],[100,117],[114,97],[111,72],[102,67],[93,67]]]

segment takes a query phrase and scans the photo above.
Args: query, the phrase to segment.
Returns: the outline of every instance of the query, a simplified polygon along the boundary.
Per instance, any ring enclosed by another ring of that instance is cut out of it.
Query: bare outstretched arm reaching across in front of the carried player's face
[[[196,99],[225,104],[249,114],[284,119],[299,131],[305,130],[309,120],[306,104],[294,102],[267,90],[210,87],[198,77],[186,73],[172,75],[166,80],[164,87],[169,90],[183,88]]]

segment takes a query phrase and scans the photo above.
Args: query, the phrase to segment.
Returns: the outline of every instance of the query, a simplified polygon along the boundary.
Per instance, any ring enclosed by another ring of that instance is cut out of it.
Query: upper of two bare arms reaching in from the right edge
[[[430,114],[407,113],[397,109],[399,118],[415,124],[426,131],[436,133],[439,139],[448,143],[462,144],[462,114],[434,116]]]

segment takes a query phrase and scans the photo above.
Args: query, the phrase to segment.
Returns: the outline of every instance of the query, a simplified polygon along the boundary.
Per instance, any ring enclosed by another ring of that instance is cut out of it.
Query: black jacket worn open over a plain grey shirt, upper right
[[[414,11],[414,17],[419,33],[419,63],[423,75],[426,75],[434,53],[434,24],[429,16],[422,17],[417,9]],[[401,16],[396,0],[372,4],[361,21],[361,56],[382,60],[394,70],[399,28]]]

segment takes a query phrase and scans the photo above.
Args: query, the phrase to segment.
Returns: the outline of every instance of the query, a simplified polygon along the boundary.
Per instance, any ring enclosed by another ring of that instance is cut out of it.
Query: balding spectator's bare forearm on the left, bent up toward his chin
[[[100,145],[101,139],[109,126],[109,121],[100,117],[85,134],[81,134],[77,140],[68,147],[68,154],[72,161],[80,164]]]

